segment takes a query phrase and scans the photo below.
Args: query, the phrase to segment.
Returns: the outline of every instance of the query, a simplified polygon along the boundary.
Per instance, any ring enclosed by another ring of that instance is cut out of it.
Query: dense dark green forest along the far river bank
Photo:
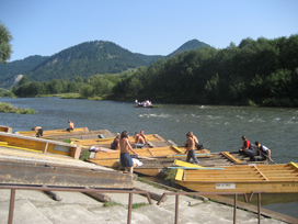
[[[149,67],[88,79],[30,81],[19,97],[79,92],[80,97],[153,102],[298,107],[298,35],[242,40],[236,46],[186,51]]]

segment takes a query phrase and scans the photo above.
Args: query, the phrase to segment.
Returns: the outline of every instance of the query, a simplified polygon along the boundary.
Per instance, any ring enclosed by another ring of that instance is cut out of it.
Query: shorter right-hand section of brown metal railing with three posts
[[[158,205],[163,201],[167,195],[175,195],[175,224],[179,221],[179,198],[180,195],[233,195],[233,223],[236,224],[237,220],[237,198],[238,195],[243,195],[245,202],[250,202],[252,200],[253,194],[257,194],[257,223],[261,223],[261,193],[263,191],[252,191],[250,198],[243,192],[164,192],[160,200],[158,201]]]

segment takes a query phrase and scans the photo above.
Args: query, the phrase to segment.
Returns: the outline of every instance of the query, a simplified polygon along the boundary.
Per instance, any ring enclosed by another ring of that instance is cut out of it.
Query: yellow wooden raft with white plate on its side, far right
[[[298,192],[298,166],[283,165],[232,166],[224,170],[179,169],[175,182],[202,192],[268,193]]]

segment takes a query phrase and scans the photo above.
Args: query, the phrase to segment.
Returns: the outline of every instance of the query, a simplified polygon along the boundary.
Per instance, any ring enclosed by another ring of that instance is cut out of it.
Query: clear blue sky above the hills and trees
[[[0,0],[11,60],[89,41],[168,55],[190,40],[216,48],[298,34],[298,0]]]

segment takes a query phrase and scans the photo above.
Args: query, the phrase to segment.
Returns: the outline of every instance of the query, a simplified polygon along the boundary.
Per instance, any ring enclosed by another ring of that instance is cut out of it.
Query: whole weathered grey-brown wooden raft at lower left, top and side
[[[69,156],[0,147],[1,183],[133,188],[135,178]]]

